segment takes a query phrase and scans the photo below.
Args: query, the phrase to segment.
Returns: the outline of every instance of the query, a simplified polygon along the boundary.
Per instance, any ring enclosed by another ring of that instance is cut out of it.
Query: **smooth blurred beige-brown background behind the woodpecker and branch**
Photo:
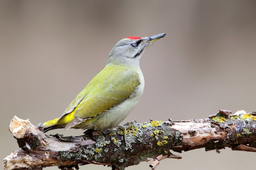
[[[141,59],[145,90],[123,123],[256,111],[256,1],[0,1],[1,159],[17,150],[14,115],[33,123],[63,113],[127,36],[166,32]],[[82,130],[48,134],[81,135]],[[255,153],[192,150],[158,170],[254,170]],[[150,169],[149,163],[128,170]],[[81,170],[103,166],[81,166]],[[57,170],[57,167],[46,168]]]

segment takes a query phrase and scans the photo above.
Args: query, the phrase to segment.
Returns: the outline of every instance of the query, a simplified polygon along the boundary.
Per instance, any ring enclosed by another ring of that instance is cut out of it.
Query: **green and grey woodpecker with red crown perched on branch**
[[[139,60],[166,33],[126,37],[109,53],[107,64],[58,118],[43,123],[44,132],[57,128],[106,131],[117,127],[139,102],[144,76]]]

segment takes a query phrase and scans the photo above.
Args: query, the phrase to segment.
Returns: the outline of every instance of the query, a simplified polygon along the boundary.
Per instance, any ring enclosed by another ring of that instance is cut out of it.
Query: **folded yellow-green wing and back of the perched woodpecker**
[[[81,121],[95,117],[127,99],[135,92],[139,84],[137,72],[122,66],[106,66],[61,115],[61,117],[69,115],[63,120],[69,122],[66,128],[71,128]]]

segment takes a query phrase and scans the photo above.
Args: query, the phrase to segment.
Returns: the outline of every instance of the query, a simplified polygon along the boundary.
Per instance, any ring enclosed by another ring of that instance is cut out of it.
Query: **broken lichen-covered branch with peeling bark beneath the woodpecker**
[[[42,127],[14,117],[9,130],[20,150],[4,158],[4,169],[77,169],[79,165],[94,163],[123,170],[148,158],[154,159],[150,167],[155,169],[161,159],[181,158],[170,150],[229,147],[256,152],[256,115],[243,110],[231,115],[226,111],[220,110],[209,119],[130,122],[111,131],[88,132],[78,137],[48,136]]]

